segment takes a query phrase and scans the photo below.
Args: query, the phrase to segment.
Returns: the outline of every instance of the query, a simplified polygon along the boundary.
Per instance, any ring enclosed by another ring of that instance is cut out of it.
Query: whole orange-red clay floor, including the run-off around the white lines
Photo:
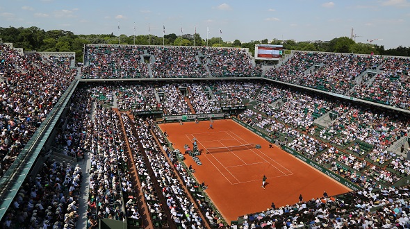
[[[189,155],[184,162],[192,164],[195,178],[208,185],[206,193],[228,221],[254,212],[266,210],[272,202],[277,207],[293,205],[302,194],[304,201],[321,197],[323,191],[333,196],[350,189],[316,171],[293,155],[277,146],[269,148],[269,142],[247,130],[235,121],[215,120],[213,130],[208,130],[210,121],[161,124],[167,130],[168,139],[181,153],[183,146],[192,148],[195,137],[198,149],[210,147],[260,144],[261,149],[219,151],[198,156],[202,165],[197,165]],[[263,175],[268,177],[265,190],[261,187]]]

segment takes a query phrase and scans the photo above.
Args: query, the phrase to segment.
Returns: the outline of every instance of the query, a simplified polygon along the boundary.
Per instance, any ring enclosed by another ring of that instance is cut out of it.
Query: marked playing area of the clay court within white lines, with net
[[[186,134],[186,137],[191,142],[197,139],[198,149],[231,185],[260,181],[263,175],[268,178],[293,175],[263,151],[254,149],[255,144],[247,142],[231,130],[211,130]]]

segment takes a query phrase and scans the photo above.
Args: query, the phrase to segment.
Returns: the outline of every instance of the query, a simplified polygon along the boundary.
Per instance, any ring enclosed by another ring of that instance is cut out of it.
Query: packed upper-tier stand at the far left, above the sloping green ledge
[[[0,45],[1,171],[6,173],[72,80],[70,58],[20,56]]]

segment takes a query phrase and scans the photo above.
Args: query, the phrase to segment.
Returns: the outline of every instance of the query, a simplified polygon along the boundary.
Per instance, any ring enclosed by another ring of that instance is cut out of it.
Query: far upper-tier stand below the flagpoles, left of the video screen
[[[257,77],[262,71],[247,49],[89,44],[82,73],[83,78],[180,78]]]

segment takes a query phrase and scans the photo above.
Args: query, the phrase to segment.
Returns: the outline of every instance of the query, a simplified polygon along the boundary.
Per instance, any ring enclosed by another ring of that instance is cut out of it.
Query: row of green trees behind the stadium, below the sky
[[[35,26],[29,28],[0,27],[0,38],[3,42],[13,43],[13,46],[23,48],[24,51],[75,51],[77,62],[83,62],[84,44],[118,44],[118,36],[113,35],[113,33],[75,35],[71,31],[44,31]],[[156,35],[138,35],[136,37],[133,35],[120,35],[120,44],[193,46],[194,39],[193,37],[183,37],[181,40],[181,37],[175,33],[167,34],[164,37]],[[264,39],[241,43],[239,40],[224,42],[219,37],[212,37],[206,41],[199,34],[195,34],[195,46],[242,47],[248,48],[253,54],[255,44],[282,44],[284,49],[288,50],[410,56],[410,47],[398,46],[395,49],[385,50],[383,45],[356,43],[349,37],[337,37],[329,42],[268,41],[268,39]]]

